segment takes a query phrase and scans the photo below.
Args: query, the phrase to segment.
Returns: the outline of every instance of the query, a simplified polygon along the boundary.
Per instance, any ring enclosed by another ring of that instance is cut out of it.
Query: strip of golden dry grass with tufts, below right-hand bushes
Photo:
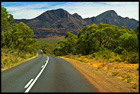
[[[116,55],[114,58],[103,59],[98,56],[92,57],[92,55],[66,55],[65,58],[78,60],[83,63],[87,63],[97,69],[106,71],[109,75],[122,79],[127,83],[133,84],[134,89],[139,89],[139,63],[130,64],[127,61],[120,60],[120,56]]]

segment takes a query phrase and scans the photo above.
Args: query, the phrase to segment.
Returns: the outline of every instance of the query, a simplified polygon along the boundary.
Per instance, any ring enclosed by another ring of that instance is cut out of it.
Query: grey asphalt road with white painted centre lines
[[[98,92],[69,62],[38,53],[38,57],[1,72],[1,92]]]

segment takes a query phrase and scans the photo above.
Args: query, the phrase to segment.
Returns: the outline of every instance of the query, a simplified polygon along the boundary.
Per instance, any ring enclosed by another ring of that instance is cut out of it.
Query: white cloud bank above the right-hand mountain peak
[[[70,13],[78,13],[83,18],[97,16],[107,10],[115,10],[122,17],[139,19],[138,2],[76,2],[57,7],[62,7]]]

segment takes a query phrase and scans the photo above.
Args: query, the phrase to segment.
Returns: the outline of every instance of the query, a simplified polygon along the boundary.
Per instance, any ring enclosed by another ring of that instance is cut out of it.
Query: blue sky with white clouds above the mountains
[[[32,19],[47,10],[63,8],[70,14],[78,13],[82,18],[96,17],[115,10],[119,16],[139,20],[139,2],[1,2],[1,6],[14,19]]]

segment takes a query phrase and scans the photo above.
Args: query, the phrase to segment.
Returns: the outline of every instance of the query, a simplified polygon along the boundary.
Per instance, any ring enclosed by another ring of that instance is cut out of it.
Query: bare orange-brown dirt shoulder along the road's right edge
[[[91,63],[84,63],[77,60],[61,57],[77,68],[100,92],[138,92],[133,89],[132,83],[118,79],[108,71],[101,70]],[[114,73],[114,75],[116,75]]]

